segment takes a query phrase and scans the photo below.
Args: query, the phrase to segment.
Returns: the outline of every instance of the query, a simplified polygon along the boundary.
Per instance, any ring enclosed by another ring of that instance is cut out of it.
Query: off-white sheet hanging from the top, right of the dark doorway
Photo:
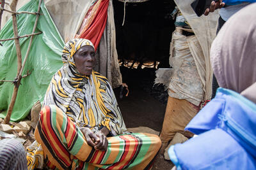
[[[198,42],[204,53],[204,59],[196,57],[195,63],[198,69],[200,79],[204,85],[204,100],[209,100],[211,99],[212,95],[212,69],[209,54],[212,41],[216,36],[216,26],[219,17],[218,10],[216,10],[214,13],[209,13],[208,16],[202,15],[201,17],[197,17],[195,11],[193,11],[193,9],[190,6],[193,0],[174,1],[177,4],[182,15],[188,21],[191,29],[193,29],[193,32],[195,33],[195,36],[198,39]],[[205,64],[204,69],[202,69],[203,63]]]

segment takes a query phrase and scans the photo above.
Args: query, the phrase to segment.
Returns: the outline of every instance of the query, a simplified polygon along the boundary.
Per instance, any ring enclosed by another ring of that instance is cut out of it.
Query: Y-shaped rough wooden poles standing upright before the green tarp
[[[18,0],[13,0],[12,4],[10,4],[10,8],[11,8],[12,11],[16,11],[17,1]],[[38,15],[36,15],[36,20],[35,20],[35,24],[34,24],[34,27],[33,27],[32,34],[35,33],[35,29],[36,29],[36,25],[37,25],[38,17],[39,17],[39,12],[40,12],[41,3],[42,3],[42,0],[40,0],[39,4],[38,4],[38,10],[37,10],[37,14]],[[12,16],[13,16],[13,32],[14,32],[14,37],[19,37],[18,29],[17,29],[16,14],[13,14]],[[17,51],[17,59],[18,59],[17,60],[18,61],[18,71],[17,71],[17,76],[15,78],[15,81],[13,82],[14,83],[14,89],[13,89],[12,99],[11,99],[11,102],[10,102],[10,105],[9,105],[9,108],[8,108],[8,111],[7,111],[7,115],[4,118],[4,124],[8,124],[10,122],[13,106],[15,104],[16,97],[17,97],[17,92],[19,90],[20,80],[22,78],[21,74],[22,74],[22,71],[24,69],[26,60],[28,59],[28,54],[29,54],[29,51],[30,51],[30,48],[31,48],[32,40],[33,40],[33,35],[31,36],[31,39],[29,41],[28,50],[26,52],[26,56],[25,56],[23,64],[22,64],[19,39],[15,39],[15,45],[16,45],[16,51]],[[18,55],[18,53],[19,53],[19,55]]]

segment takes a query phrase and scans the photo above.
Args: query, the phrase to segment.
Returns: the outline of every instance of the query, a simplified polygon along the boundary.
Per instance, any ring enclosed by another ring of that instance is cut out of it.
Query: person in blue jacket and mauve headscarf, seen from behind
[[[177,169],[256,169],[255,9],[234,14],[212,43],[221,88],[186,127],[198,136],[168,150]]]

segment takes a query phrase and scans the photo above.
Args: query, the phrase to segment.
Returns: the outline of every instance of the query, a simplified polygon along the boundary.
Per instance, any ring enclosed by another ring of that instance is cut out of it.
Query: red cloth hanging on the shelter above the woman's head
[[[106,22],[108,18],[108,4],[109,0],[102,0],[97,10],[95,17],[93,18],[92,23],[88,27],[88,29],[78,37],[78,38],[85,38],[92,41],[95,50],[100,43],[100,38],[103,34],[103,31],[106,27]]]

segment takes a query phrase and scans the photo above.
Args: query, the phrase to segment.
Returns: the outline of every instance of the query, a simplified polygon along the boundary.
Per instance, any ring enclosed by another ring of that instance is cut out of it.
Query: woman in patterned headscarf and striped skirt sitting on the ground
[[[126,131],[108,80],[93,71],[92,42],[68,41],[62,59],[35,130],[39,144],[28,148],[29,169],[149,169],[161,140]]]

